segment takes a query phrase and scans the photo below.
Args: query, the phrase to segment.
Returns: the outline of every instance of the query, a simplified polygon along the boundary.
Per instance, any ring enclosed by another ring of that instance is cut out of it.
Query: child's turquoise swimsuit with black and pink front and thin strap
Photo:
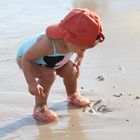
[[[37,39],[41,35],[43,35],[43,34],[44,33],[35,35],[31,39],[25,41],[20,46],[20,48],[19,48],[19,50],[17,52],[17,58],[18,57],[22,57],[26,53],[26,51],[29,48],[31,48],[36,43]],[[51,54],[51,55],[45,55],[45,56],[37,59],[35,61],[35,63],[36,64],[39,64],[39,65],[46,66],[46,67],[58,69],[58,68],[61,68],[62,66],[64,66],[64,64],[66,64],[70,60],[70,58],[73,55],[73,53],[72,52],[66,53],[66,54],[57,53],[56,52],[56,45],[55,45],[54,40],[52,40],[52,39],[50,39],[50,40],[52,42],[53,54]]]

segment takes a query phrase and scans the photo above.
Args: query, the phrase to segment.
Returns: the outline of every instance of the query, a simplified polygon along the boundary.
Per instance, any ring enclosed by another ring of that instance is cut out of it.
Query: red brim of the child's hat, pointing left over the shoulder
[[[63,38],[62,31],[59,24],[48,26],[46,34],[49,38],[61,39]]]

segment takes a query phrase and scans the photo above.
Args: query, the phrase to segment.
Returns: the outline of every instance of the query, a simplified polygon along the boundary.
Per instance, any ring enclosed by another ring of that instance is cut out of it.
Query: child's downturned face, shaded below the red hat
[[[74,53],[82,53],[87,49],[95,47],[99,43],[99,40],[96,40],[95,45],[93,46],[80,46],[80,45],[76,45],[67,41],[65,41],[65,43],[69,51],[74,52]]]

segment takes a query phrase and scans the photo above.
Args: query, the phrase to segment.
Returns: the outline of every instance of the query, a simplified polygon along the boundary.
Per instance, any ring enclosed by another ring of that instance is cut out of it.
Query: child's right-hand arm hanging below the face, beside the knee
[[[76,66],[76,69],[77,69],[77,73],[76,73],[76,77],[77,78],[80,76],[80,65],[82,63],[82,60],[83,60],[83,57],[84,57],[84,53],[85,53],[85,51],[77,53],[77,57],[75,59],[74,65]]]

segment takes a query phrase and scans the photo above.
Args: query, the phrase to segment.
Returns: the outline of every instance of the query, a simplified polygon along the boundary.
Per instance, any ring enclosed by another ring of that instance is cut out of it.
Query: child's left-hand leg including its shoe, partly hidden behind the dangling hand
[[[22,69],[22,58],[17,59],[19,67]],[[43,87],[46,97],[35,96],[34,117],[41,121],[52,122],[57,120],[57,115],[47,107],[47,98],[50,88],[55,80],[56,71],[51,68],[45,68],[38,64],[33,64],[35,78],[38,78],[39,84]]]

